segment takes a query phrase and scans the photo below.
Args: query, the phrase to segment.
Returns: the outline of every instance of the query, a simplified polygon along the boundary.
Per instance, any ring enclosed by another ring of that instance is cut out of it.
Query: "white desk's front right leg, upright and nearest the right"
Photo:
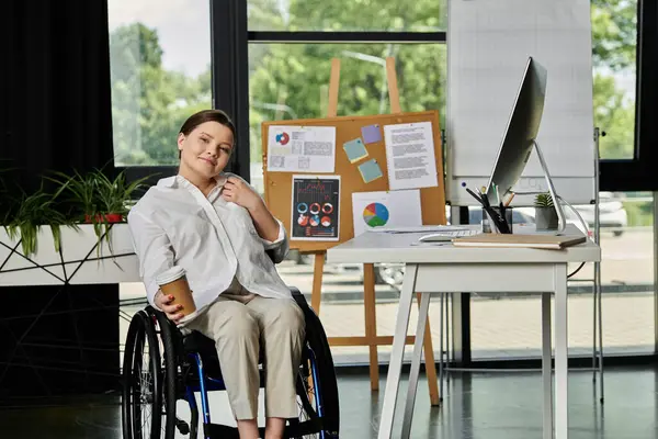
[[[569,434],[567,264],[555,266],[555,438]]]

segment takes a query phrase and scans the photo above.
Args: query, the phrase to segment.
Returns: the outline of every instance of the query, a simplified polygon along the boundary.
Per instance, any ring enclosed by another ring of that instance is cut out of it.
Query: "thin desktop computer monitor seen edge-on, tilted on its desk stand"
[[[535,149],[560,221],[560,230],[564,230],[566,226],[564,213],[555,193],[546,161],[536,143],[544,113],[546,79],[547,71],[544,66],[529,57],[486,193],[489,202],[494,204],[497,202],[497,195],[502,201],[508,193],[513,192],[512,188],[521,178],[530,155]],[[496,184],[498,193],[496,193],[494,184]]]

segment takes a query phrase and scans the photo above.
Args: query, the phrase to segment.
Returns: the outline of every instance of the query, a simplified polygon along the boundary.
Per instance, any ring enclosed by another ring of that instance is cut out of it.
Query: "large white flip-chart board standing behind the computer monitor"
[[[537,143],[557,193],[593,200],[589,0],[451,0],[447,29],[447,200],[477,203],[462,182],[487,184],[529,56],[547,70]],[[545,191],[543,176],[533,153],[514,190]]]

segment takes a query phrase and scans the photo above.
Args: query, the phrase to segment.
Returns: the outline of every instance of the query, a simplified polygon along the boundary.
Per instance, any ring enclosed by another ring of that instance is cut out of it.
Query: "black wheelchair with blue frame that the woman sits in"
[[[304,311],[306,339],[297,373],[299,417],[287,419],[286,438],[333,439],[339,435],[338,385],[333,360],[320,319],[292,288]],[[259,371],[264,386],[266,362]],[[239,438],[236,427],[211,423],[208,392],[225,391],[214,340],[201,333],[183,336],[164,313],[147,306],[131,320],[123,361],[122,424],[124,439],[173,439],[175,430],[197,437],[200,394],[203,438]],[[190,405],[190,423],[177,417],[177,401]],[[179,435],[179,436],[180,436]],[[260,428],[264,437],[264,428]]]

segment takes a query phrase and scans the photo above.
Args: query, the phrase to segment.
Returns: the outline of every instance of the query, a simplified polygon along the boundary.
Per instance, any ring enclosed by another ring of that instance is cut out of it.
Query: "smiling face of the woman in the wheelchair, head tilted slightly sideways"
[[[211,179],[224,170],[230,158],[234,136],[229,127],[204,122],[189,135],[179,134],[181,166],[200,177]]]

